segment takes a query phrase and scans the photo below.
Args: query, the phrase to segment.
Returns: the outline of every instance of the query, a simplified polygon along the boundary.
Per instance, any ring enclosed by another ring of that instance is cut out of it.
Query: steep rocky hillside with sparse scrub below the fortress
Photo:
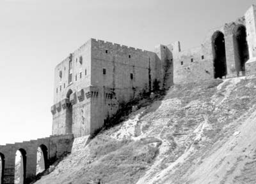
[[[256,78],[174,85],[36,184],[256,183]]]

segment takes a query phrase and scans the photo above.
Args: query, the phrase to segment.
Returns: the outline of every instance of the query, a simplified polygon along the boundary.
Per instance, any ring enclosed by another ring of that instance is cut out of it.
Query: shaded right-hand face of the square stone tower
[[[161,60],[154,52],[92,39],[92,86],[99,88],[99,96],[92,101],[91,132],[102,127],[121,103],[152,89],[161,72]]]

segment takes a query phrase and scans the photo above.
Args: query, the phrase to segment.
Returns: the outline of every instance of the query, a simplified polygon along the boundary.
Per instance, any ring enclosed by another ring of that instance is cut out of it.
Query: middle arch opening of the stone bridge
[[[26,180],[26,151],[22,148],[17,150],[15,156],[15,184],[24,184]]]

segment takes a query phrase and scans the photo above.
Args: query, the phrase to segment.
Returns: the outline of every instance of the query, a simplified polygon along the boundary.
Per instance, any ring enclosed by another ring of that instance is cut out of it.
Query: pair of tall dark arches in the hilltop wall
[[[235,70],[237,76],[242,72],[245,74],[245,62],[249,59],[248,43],[246,41],[246,27],[238,24],[232,31]],[[227,76],[227,58],[225,50],[225,36],[223,32],[216,31],[212,35],[212,54],[214,65],[214,78],[223,78]]]

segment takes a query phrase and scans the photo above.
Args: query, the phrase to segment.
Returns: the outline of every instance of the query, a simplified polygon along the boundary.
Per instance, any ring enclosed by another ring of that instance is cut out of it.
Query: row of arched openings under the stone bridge
[[[20,148],[15,155],[15,184],[24,184],[26,180],[26,150]],[[45,171],[49,167],[47,146],[40,145],[36,155],[36,175]],[[4,182],[5,157],[0,153],[0,184]]]

